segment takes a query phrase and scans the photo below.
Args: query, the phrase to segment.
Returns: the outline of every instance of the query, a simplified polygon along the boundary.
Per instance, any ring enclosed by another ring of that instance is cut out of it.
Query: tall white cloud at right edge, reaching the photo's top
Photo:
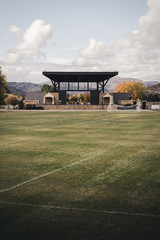
[[[115,60],[121,71],[124,66],[125,74],[131,73],[135,77],[140,76],[149,80],[160,76],[160,1],[148,0],[148,12],[139,19],[139,30],[133,31],[114,46]],[[122,62],[120,61],[122,56]],[[135,66],[137,71],[131,72]],[[155,72],[157,71],[157,72]]]

